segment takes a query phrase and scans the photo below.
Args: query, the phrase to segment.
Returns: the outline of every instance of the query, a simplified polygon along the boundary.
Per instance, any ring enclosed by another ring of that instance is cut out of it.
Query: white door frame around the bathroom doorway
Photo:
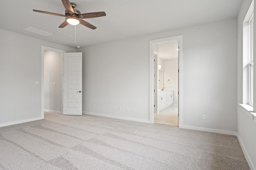
[[[178,57],[178,125],[183,126],[183,36],[177,35],[161,39],[150,40],[149,43],[149,121],[154,123],[154,45],[170,41],[179,42]],[[156,89],[157,90],[157,89]]]

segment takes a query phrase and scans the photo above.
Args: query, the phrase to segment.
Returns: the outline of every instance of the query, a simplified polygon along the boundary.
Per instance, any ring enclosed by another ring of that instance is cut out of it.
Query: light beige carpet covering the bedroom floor
[[[248,170],[235,136],[45,113],[0,128],[1,170]]]

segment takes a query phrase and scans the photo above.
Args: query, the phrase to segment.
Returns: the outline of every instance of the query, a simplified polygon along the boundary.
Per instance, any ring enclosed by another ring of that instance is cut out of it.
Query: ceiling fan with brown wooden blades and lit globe
[[[75,9],[75,7],[76,7],[75,3],[72,3],[72,2],[70,3],[69,0],[61,0],[61,1],[66,9],[65,15],[56,14],[56,13],[52,13],[52,12],[46,12],[46,11],[40,11],[40,10],[33,10],[33,11],[44,13],[44,14],[50,14],[50,15],[54,15],[54,16],[66,17],[66,21],[64,21],[62,24],[60,24],[59,28],[64,28],[68,24],[77,25],[78,23],[80,23],[90,29],[96,29],[97,27],[95,27],[94,25],[92,25],[84,20],[81,20],[81,19],[106,16],[105,12],[91,12],[91,13],[81,14],[81,12],[79,10]]]

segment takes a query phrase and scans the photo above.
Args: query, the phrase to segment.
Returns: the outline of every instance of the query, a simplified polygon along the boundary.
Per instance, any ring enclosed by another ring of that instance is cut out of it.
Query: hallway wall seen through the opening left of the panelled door
[[[44,51],[44,109],[61,113],[62,55]],[[55,84],[54,84],[55,82]]]

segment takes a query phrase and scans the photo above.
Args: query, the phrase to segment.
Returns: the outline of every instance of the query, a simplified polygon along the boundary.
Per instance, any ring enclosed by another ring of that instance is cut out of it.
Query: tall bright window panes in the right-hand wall
[[[248,104],[253,105],[253,14],[248,22]]]

